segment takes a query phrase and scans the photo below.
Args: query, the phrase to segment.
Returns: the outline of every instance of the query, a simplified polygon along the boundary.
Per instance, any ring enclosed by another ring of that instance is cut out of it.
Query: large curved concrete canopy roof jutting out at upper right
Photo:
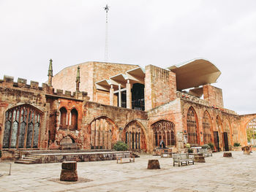
[[[197,58],[179,66],[170,66],[167,69],[176,73],[178,91],[214,83],[221,74],[217,66],[203,58]]]

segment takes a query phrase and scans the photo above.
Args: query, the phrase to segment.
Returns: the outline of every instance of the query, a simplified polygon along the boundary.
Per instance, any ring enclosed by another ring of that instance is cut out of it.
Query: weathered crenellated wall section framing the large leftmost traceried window
[[[39,87],[38,82],[31,81],[30,85],[26,84],[26,80],[18,78],[18,82],[13,81],[13,77],[4,76],[4,80],[0,80],[0,149],[3,147],[5,113],[12,107],[29,104],[31,107],[37,108],[42,112],[39,132],[38,148],[45,149],[48,140],[48,106],[45,104],[45,91],[47,85]],[[15,150],[13,148],[12,150]],[[3,158],[12,158],[13,153],[4,150]]]

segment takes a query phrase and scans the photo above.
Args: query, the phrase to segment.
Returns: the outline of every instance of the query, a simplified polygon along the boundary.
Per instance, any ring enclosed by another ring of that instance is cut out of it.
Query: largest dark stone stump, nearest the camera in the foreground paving
[[[61,164],[61,178],[62,181],[78,181],[77,162],[64,161]]]

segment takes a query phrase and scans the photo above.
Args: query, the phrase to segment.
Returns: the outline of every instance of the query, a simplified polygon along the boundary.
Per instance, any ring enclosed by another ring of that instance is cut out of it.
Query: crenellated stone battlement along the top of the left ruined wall
[[[27,80],[18,77],[18,81],[14,81],[14,77],[4,75],[4,80],[0,80],[0,86],[5,88],[22,88],[26,91],[38,91],[39,93],[45,93],[52,96],[62,96],[68,97],[72,99],[81,99],[81,100],[89,100],[87,96],[87,92],[71,92],[71,91],[63,91],[61,89],[54,89],[52,86],[49,86],[46,83],[42,83],[42,86],[39,86],[39,82],[30,81],[30,84],[27,84]]]

